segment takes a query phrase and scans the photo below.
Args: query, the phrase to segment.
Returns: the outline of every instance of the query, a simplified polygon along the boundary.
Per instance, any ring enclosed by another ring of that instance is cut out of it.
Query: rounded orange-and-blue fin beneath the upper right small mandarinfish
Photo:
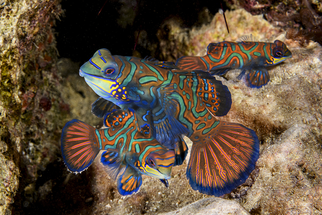
[[[260,88],[270,81],[270,74],[266,68],[253,68],[246,75],[246,81],[252,88]]]

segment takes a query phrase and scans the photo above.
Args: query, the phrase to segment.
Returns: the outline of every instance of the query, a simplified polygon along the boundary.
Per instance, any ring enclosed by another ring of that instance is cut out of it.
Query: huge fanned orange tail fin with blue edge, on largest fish
[[[194,143],[186,177],[194,190],[224,195],[244,183],[255,169],[259,140],[253,130],[241,124],[216,121],[205,136],[194,134],[191,139]]]

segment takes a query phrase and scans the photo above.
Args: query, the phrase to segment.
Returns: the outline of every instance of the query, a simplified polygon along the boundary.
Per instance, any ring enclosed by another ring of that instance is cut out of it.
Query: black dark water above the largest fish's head
[[[157,44],[157,30],[167,18],[178,17],[182,27],[198,26],[203,22],[199,18],[201,11],[208,8],[209,13],[214,15],[221,8],[220,1],[210,0],[108,0],[104,3],[105,0],[61,2],[66,11],[55,27],[60,57],[82,64],[100,48],[109,49],[112,55],[132,56],[136,31],[145,30],[149,42]],[[223,9],[227,9],[224,2]],[[128,17],[128,14],[132,16]],[[128,22],[133,21],[133,25],[119,26],[117,20],[126,20],[126,17]],[[147,48],[140,45],[136,46],[136,50],[143,57],[151,55]],[[158,53],[156,50],[155,55]]]

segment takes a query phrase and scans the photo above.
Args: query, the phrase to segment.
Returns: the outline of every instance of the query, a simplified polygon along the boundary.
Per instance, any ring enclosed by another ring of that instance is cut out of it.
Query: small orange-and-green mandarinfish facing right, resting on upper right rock
[[[248,85],[260,88],[270,81],[270,74],[265,67],[279,64],[292,53],[286,45],[279,40],[274,43],[254,42],[254,37],[243,36],[237,42],[223,41],[210,43],[207,55],[183,56],[177,59],[175,65],[180,69],[200,69],[212,75],[223,75],[231,69],[242,69],[239,77],[246,70]]]

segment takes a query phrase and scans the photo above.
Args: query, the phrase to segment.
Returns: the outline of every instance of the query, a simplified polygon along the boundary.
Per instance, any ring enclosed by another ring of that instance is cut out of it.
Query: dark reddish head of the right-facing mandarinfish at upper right
[[[292,57],[291,51],[282,41],[275,40],[270,49],[270,58],[273,65],[284,61],[288,57]]]

